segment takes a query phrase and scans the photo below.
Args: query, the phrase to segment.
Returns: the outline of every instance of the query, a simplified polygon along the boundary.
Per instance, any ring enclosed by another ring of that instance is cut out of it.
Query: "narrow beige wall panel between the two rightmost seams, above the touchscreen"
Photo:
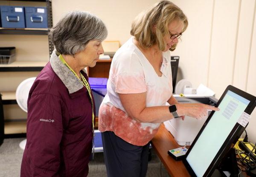
[[[247,66],[250,57],[250,46],[253,30],[255,0],[242,0],[239,17],[239,29],[236,47],[233,85],[246,90]]]

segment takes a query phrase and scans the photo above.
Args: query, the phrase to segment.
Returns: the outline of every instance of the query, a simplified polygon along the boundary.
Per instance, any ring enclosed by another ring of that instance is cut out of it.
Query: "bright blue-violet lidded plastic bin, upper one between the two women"
[[[89,78],[89,84],[93,91],[96,117],[99,116],[99,106],[107,94],[107,78]]]

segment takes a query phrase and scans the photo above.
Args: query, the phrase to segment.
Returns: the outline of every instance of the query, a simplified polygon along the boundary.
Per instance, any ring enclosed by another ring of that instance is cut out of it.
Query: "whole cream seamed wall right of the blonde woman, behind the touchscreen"
[[[256,1],[177,0],[189,27],[173,53],[183,77],[206,84],[219,98],[231,84],[256,96]],[[256,141],[256,110],[247,127]]]

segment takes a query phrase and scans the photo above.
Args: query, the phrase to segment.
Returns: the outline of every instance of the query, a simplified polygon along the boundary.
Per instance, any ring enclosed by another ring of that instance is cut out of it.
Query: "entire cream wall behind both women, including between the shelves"
[[[71,10],[86,10],[105,22],[108,27],[107,40],[119,40],[123,44],[130,37],[134,17],[158,1],[52,0],[53,24]],[[172,0],[189,20],[188,29],[181,37],[182,41],[172,54],[180,56],[179,65],[183,78],[189,79],[194,87],[198,87],[200,83],[205,84],[215,91],[217,98],[229,84],[256,95],[255,1]],[[15,44],[15,37],[1,35],[0,38],[0,46],[7,42],[7,38],[13,38]],[[48,53],[45,52],[47,48],[44,44],[47,40],[43,39],[44,37],[28,38],[26,40],[34,40],[42,46],[41,51],[37,50],[38,58],[47,60]],[[28,49],[20,45],[21,40],[23,37],[17,35],[16,43],[21,48],[21,54],[24,54],[20,60],[23,60]],[[12,89],[15,90],[15,86]],[[254,125],[256,111],[253,112],[247,128],[249,139],[252,141],[256,141]]]

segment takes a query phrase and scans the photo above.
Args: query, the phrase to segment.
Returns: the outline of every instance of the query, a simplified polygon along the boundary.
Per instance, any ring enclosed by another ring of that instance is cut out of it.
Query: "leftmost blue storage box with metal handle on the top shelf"
[[[25,28],[24,8],[22,6],[0,6],[3,28]]]

